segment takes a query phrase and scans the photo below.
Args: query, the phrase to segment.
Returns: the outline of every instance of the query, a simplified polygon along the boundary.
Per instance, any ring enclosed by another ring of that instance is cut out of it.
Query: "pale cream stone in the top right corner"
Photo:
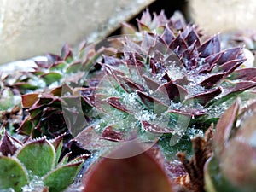
[[[256,30],[255,0],[189,0],[189,14],[209,34]]]

